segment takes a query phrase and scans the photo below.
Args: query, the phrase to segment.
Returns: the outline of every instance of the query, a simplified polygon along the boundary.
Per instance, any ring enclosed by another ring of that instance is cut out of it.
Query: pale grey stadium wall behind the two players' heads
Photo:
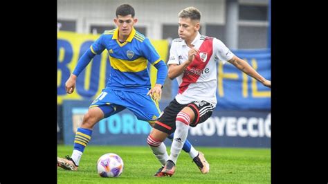
[[[186,6],[195,6],[202,12],[202,22],[224,24],[224,0],[189,0],[188,3],[174,0],[59,0],[57,1],[57,19],[77,21],[78,33],[89,33],[91,24],[115,26],[116,8],[122,3],[130,3],[136,10],[137,26],[145,26],[147,37],[162,39],[162,24],[176,25],[177,15]],[[215,17],[215,19],[213,19]]]

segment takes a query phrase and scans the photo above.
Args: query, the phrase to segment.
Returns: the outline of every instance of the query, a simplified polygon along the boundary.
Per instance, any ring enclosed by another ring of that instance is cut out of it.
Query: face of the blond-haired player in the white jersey
[[[199,21],[192,21],[190,18],[179,18],[178,34],[181,39],[191,39],[199,30]]]

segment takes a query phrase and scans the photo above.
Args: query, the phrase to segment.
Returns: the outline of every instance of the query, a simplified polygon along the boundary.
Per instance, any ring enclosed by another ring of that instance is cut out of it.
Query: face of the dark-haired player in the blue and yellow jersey
[[[131,17],[131,15],[118,15],[118,17],[114,19],[114,22],[116,26],[118,26],[118,33],[123,37],[127,37],[130,35],[134,24],[137,22],[137,19]]]

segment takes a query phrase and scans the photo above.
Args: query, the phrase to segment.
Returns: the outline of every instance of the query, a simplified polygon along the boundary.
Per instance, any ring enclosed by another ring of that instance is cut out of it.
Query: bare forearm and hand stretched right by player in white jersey
[[[262,75],[259,75],[255,69],[248,64],[248,62],[244,61],[243,59],[240,59],[237,56],[233,56],[232,59],[228,60],[231,64],[233,64],[236,68],[238,68],[240,71],[246,73],[250,77],[255,78],[255,80],[261,82],[264,86],[267,86],[271,88],[271,81],[266,80]]]

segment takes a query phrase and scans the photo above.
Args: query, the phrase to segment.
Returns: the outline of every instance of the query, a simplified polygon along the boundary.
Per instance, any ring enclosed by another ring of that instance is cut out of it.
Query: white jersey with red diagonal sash
[[[199,54],[185,68],[183,74],[176,77],[179,84],[176,101],[180,104],[188,104],[193,101],[206,100],[216,106],[217,62],[225,63],[233,58],[234,54],[219,39],[199,33],[192,41],[192,45],[199,49]],[[174,39],[167,65],[187,61],[189,50],[183,39]]]

